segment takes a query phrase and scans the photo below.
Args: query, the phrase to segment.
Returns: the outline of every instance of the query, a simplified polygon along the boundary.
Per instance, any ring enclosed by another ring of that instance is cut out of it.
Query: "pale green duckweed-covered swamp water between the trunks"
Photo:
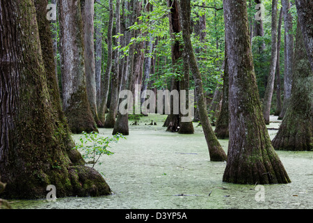
[[[291,183],[264,185],[264,201],[255,200],[255,185],[223,183],[225,162],[210,162],[202,128],[195,134],[166,132],[166,116],[141,118],[130,125],[130,135],[113,144],[113,156],[101,158],[95,169],[104,173],[113,195],[70,197],[47,202],[11,201],[13,208],[109,209],[211,209],[211,208],[313,208],[313,153],[277,151]],[[268,128],[280,122],[271,116]],[[157,122],[157,125],[145,125]],[[129,123],[132,123],[130,121]],[[99,129],[111,135],[111,129]],[[268,130],[271,139],[277,130]],[[75,141],[79,134],[73,135]],[[228,140],[220,140],[227,152]],[[88,160],[87,160],[88,161]],[[209,193],[210,196],[209,196]],[[58,192],[56,192],[58,197]]]

